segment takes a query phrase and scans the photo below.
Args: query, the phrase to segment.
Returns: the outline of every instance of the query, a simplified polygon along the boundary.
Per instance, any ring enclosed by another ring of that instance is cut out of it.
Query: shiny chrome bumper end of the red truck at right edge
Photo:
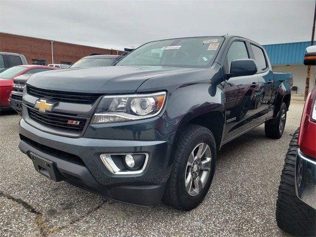
[[[296,195],[316,209],[316,159],[297,151],[295,164]]]

